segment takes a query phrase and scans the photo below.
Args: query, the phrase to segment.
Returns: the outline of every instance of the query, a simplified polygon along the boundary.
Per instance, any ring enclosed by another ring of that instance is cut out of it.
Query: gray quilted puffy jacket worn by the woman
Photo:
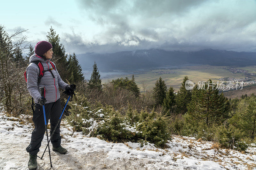
[[[37,79],[39,77],[39,68],[35,63],[31,63],[32,61],[36,60],[39,60],[42,63],[44,70],[49,70],[52,68],[52,65],[49,61],[50,59],[44,60],[42,57],[37,56],[36,54],[29,57],[30,64],[27,67],[27,89],[29,94],[34,98],[35,103],[38,103],[38,100],[41,97],[39,87],[45,87],[45,98],[47,100],[46,103],[55,102],[60,98],[59,87],[61,89],[65,89],[68,84],[60,78],[60,74],[58,73],[57,68],[53,62],[52,63],[55,67],[55,70],[53,69],[52,73],[55,78],[53,78],[50,71],[46,71],[44,72],[44,76],[42,77],[41,82],[38,83]]]

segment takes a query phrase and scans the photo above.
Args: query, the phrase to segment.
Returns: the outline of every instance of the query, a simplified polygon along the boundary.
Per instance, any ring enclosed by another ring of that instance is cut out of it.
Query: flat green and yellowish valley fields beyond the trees
[[[169,88],[170,85],[172,85],[175,89],[175,91],[178,91],[180,88],[180,85],[182,83],[182,80],[184,76],[188,76],[189,80],[193,81],[194,83],[197,81],[207,81],[209,79],[212,79],[213,82],[220,81],[218,80],[221,77],[234,77],[234,78],[244,78],[244,75],[242,73],[236,73],[233,74],[232,72],[228,71],[228,69],[225,69],[227,67],[214,67],[214,66],[192,66],[192,67],[182,67],[181,69],[157,69],[157,70],[151,70],[148,72],[145,72],[143,74],[135,74],[135,81],[140,87],[140,90],[142,91],[142,82],[144,81],[147,85],[147,89],[153,88],[156,80],[159,79],[161,76],[163,80],[165,81],[165,84]],[[256,67],[239,67],[241,69],[251,69],[256,70]],[[173,74],[158,74],[154,72],[159,71],[172,71],[176,72]],[[132,75],[118,75],[113,76],[108,79],[102,79],[102,83],[105,83],[107,81],[112,81],[113,79],[117,79],[120,77],[128,77],[129,79],[132,78]],[[255,77],[256,78],[256,77]]]

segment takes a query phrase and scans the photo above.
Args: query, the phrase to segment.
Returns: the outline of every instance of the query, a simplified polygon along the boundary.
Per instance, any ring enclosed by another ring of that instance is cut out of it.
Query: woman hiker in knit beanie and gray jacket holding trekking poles
[[[33,113],[33,122],[35,124],[35,129],[31,135],[31,142],[26,148],[29,152],[29,162],[28,168],[30,170],[37,168],[36,157],[41,146],[41,142],[44,138],[45,133],[45,123],[44,123],[44,113],[43,106],[45,108],[45,117],[48,124],[50,118],[51,131],[56,126],[60,115],[61,115],[61,106],[60,106],[60,91],[65,89],[66,95],[71,95],[76,89],[76,85],[68,85],[61,78],[60,74],[57,71],[56,65],[53,62],[50,62],[52,58],[52,44],[47,41],[40,41],[35,46],[35,53],[29,58],[30,64],[27,67],[27,85],[29,94],[35,100],[35,111]],[[38,63],[40,61],[40,63]],[[44,75],[40,78],[39,66],[44,67]],[[40,95],[40,87],[45,88],[44,98]],[[60,122],[52,136],[52,150],[60,153],[67,153],[68,151],[60,145]]]

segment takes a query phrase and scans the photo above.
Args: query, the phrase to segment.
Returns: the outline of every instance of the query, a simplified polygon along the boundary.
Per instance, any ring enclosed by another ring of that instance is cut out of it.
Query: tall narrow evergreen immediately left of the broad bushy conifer
[[[188,111],[187,106],[188,106],[188,103],[191,101],[191,90],[187,90],[185,88],[185,82],[187,80],[188,80],[188,76],[185,76],[176,98],[177,109],[182,114]]]

